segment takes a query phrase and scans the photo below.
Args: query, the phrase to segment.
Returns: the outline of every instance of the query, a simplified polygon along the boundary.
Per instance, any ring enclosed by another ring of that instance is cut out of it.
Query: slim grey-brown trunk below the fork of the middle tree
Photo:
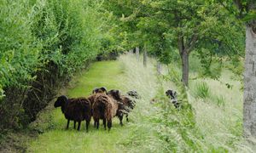
[[[185,86],[189,86],[189,54],[186,50],[183,50],[181,54],[182,63],[183,63],[183,78],[182,81]]]

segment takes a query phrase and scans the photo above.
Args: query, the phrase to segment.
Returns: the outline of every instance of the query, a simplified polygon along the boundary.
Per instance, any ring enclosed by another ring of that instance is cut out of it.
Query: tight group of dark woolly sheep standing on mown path
[[[95,88],[92,94],[87,97],[68,99],[67,96],[61,95],[55,101],[55,107],[61,107],[62,113],[67,119],[67,128],[69,122],[73,121],[73,127],[76,128],[76,122],[79,123],[80,130],[81,122],[86,122],[86,132],[90,125],[91,116],[94,119],[94,127],[99,128],[100,120],[103,121],[103,126],[108,130],[112,127],[114,116],[119,117],[120,125],[123,125],[123,116],[128,122],[128,114],[136,105],[136,99],[139,99],[137,91],[129,91],[127,95],[121,95],[119,90],[109,90],[106,88]]]

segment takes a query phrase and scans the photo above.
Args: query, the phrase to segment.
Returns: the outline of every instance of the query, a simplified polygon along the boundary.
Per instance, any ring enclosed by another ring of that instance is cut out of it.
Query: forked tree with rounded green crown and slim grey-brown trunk
[[[185,86],[189,86],[189,54],[192,52],[201,54],[201,62],[209,71],[212,54],[234,54],[242,50],[241,41],[237,41],[236,46],[232,42],[242,37],[236,32],[239,24],[219,4],[193,0],[158,0],[149,5],[154,10],[152,18],[159,22],[157,28],[162,27],[165,31],[162,36],[166,43],[172,46],[171,49],[177,48],[179,51]],[[223,51],[216,52],[223,47]],[[204,60],[206,58],[208,60]]]

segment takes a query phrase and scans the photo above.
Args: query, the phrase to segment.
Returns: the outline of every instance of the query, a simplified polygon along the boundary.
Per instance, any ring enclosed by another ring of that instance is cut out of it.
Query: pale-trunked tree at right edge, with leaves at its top
[[[222,2],[225,7],[230,1]],[[246,137],[256,137],[256,3],[253,0],[233,0],[237,12],[228,8],[236,14],[238,19],[245,22],[246,26],[246,56],[244,72],[244,102],[243,102],[243,127]]]

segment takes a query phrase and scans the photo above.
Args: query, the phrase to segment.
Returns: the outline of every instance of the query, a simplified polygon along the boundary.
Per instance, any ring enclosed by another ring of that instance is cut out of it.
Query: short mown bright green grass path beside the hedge
[[[79,77],[74,78],[72,88],[67,89],[67,96],[87,96],[96,87],[122,89],[119,82],[122,82],[123,77],[119,61],[96,62],[90,66],[89,71],[83,71]],[[70,123],[69,129],[65,130],[67,120],[60,108],[53,109],[43,116],[50,118],[51,127],[29,144],[28,152],[122,152],[117,143],[129,134],[127,123],[120,127],[117,118],[114,119],[110,132],[103,129],[102,122],[97,131],[91,120],[89,133],[86,133],[85,122],[82,122],[80,132],[73,130],[73,122]],[[40,127],[40,124],[38,126]]]

